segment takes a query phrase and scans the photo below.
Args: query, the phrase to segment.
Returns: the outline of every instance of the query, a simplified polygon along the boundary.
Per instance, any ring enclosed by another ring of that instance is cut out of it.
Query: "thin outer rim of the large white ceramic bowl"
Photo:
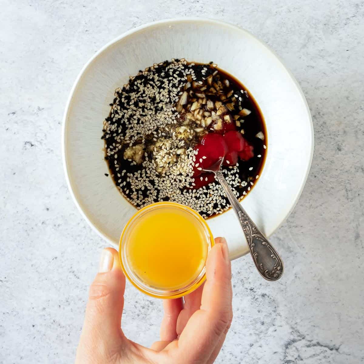
[[[297,80],[294,78],[292,72],[285,66],[284,62],[282,62],[280,56],[278,56],[276,54],[276,52],[274,50],[272,50],[272,48],[270,48],[267,44],[265,44],[262,40],[257,38],[255,35],[253,35],[249,31],[247,31],[247,30],[245,30],[243,28],[240,28],[237,25],[230,24],[230,23],[228,23],[226,21],[215,20],[215,19],[210,19],[210,18],[205,18],[205,17],[176,17],[176,18],[169,18],[169,19],[163,19],[163,20],[149,22],[149,23],[140,25],[139,27],[130,29],[130,30],[122,33],[121,35],[117,36],[116,38],[112,39],[111,41],[106,43],[103,47],[101,47],[94,55],[92,55],[90,59],[88,59],[88,61],[84,64],[84,66],[80,70],[80,72],[79,72],[78,76],[76,77],[76,80],[75,80],[75,82],[74,82],[74,84],[73,84],[73,86],[71,88],[71,91],[70,91],[70,94],[68,96],[66,106],[65,106],[65,109],[64,109],[63,120],[62,120],[62,141],[61,141],[61,143],[62,143],[62,162],[63,162],[63,170],[64,170],[64,175],[65,175],[65,178],[66,178],[68,190],[70,191],[72,200],[74,201],[74,203],[75,203],[76,207],[78,208],[80,214],[87,221],[88,225],[90,225],[91,228],[100,237],[102,237],[104,240],[106,240],[112,246],[117,246],[118,242],[115,243],[109,237],[107,237],[107,235],[104,234],[102,232],[102,230],[100,230],[94,223],[92,223],[91,217],[87,216],[87,214],[84,212],[84,210],[82,208],[82,203],[78,200],[78,198],[75,195],[75,192],[74,192],[74,189],[73,189],[73,183],[71,181],[71,176],[70,176],[70,173],[68,171],[68,158],[69,157],[67,156],[67,148],[66,148],[66,131],[67,131],[67,127],[68,127],[68,114],[69,114],[69,111],[70,111],[70,106],[72,104],[72,100],[74,98],[76,88],[78,86],[78,83],[79,83],[80,79],[82,78],[83,74],[85,73],[87,68],[90,66],[90,64],[92,62],[94,62],[94,60],[96,58],[98,58],[98,56],[100,54],[102,54],[107,48],[111,47],[113,44],[120,41],[121,39],[123,39],[123,38],[125,38],[125,37],[127,37],[127,36],[129,36],[131,34],[142,31],[143,29],[152,28],[154,26],[158,26],[158,25],[161,25],[161,24],[192,23],[192,22],[196,22],[196,21],[198,21],[199,23],[218,24],[218,25],[222,25],[224,27],[232,28],[232,29],[234,29],[234,31],[244,33],[245,35],[248,35],[249,37],[252,37],[254,39],[254,41],[260,43],[260,45],[262,47],[266,48],[266,50],[268,52],[272,53],[277,58],[278,63],[280,64],[280,66],[287,72],[289,78],[292,80],[293,84],[296,86],[298,94],[300,94],[302,102],[304,103],[304,105],[306,107],[306,112],[307,112],[307,116],[308,116],[308,119],[309,119],[309,127],[310,127],[310,135],[309,135],[310,140],[309,140],[309,143],[310,143],[311,148],[310,148],[310,156],[309,156],[307,164],[306,164],[305,174],[304,174],[304,176],[303,176],[303,178],[301,180],[300,188],[297,190],[296,196],[294,197],[288,212],[286,213],[284,218],[282,218],[281,222],[278,223],[277,226],[275,226],[272,229],[272,231],[267,232],[267,234],[266,234],[267,237],[274,234],[277,231],[277,229],[279,229],[279,227],[286,221],[286,219],[292,213],[294,207],[296,207],[298,199],[300,198],[301,193],[302,193],[302,191],[303,191],[303,189],[305,187],[305,183],[306,183],[306,180],[308,178],[310,167],[311,167],[311,164],[312,164],[313,151],[314,151],[314,130],[313,130],[313,123],[312,123],[312,116],[311,116],[311,113],[310,113],[306,98],[305,98],[305,96],[304,96],[304,94],[303,94],[303,92],[301,90],[300,85],[298,84]]]

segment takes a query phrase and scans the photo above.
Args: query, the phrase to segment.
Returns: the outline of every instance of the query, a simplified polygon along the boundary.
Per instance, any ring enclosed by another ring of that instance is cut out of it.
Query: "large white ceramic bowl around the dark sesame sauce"
[[[243,29],[209,19],[163,20],[132,29],[83,67],[66,105],[62,135],[64,171],[78,209],[100,236],[118,245],[135,207],[104,175],[102,123],[115,88],[139,69],[171,58],[213,60],[237,77],[261,107],[268,154],[256,186],[241,203],[270,236],[291,213],[306,182],[313,154],[310,112],[296,80],[264,43]],[[231,259],[248,252],[232,210],[207,222],[214,236],[227,238]]]

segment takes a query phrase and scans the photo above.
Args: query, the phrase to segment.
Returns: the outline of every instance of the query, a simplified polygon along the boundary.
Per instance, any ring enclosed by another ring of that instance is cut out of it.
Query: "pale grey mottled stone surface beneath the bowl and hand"
[[[0,363],[72,363],[104,242],[63,175],[61,122],[83,64],[143,23],[205,16],[271,46],[301,84],[315,152],[296,209],[272,237],[276,284],[233,262],[234,320],[217,363],[364,361],[364,2],[1,0]],[[299,136],[297,136],[299,137]],[[161,302],[127,285],[126,335],[158,337]]]

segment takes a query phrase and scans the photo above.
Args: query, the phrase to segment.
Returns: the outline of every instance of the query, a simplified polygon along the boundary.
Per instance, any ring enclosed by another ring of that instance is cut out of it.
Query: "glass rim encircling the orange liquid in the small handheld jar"
[[[131,266],[127,260],[126,257],[126,236],[128,232],[132,229],[134,226],[134,223],[138,221],[140,217],[145,215],[148,211],[153,211],[158,208],[163,207],[173,207],[175,209],[183,209],[187,213],[189,213],[191,216],[193,216],[196,221],[199,223],[199,227],[201,227],[201,230],[205,233],[206,236],[206,243],[207,245],[207,255],[209,254],[211,248],[214,246],[214,238],[211,233],[211,230],[209,226],[207,225],[205,219],[198,214],[195,210],[191,209],[188,206],[182,205],[177,202],[169,202],[169,201],[162,201],[162,202],[155,202],[148,206],[142,207],[142,209],[138,210],[126,223],[123,232],[120,236],[120,242],[119,242],[119,260],[120,264],[122,266],[123,272],[125,276],[128,278],[130,283],[134,285],[137,289],[139,289],[141,292],[152,296],[156,298],[164,298],[164,299],[171,299],[171,298],[179,298],[182,296],[185,296],[186,294],[189,294],[193,292],[195,289],[197,289],[206,279],[206,267],[203,265],[203,268],[201,272],[198,274],[198,276],[191,281],[189,284],[180,287],[178,289],[158,289],[156,287],[153,287],[151,285],[148,285],[146,282],[143,282],[131,269]]]

